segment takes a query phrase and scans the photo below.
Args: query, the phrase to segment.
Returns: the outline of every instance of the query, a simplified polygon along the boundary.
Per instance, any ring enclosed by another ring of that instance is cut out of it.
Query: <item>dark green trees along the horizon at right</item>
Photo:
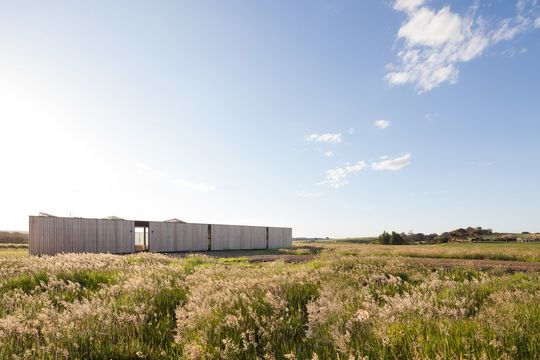
[[[491,235],[491,229],[482,229],[482,227],[460,228],[442,234],[422,234],[422,233],[397,233],[384,231],[377,238],[377,243],[383,245],[412,245],[412,244],[441,244],[453,241],[472,241],[482,236]]]

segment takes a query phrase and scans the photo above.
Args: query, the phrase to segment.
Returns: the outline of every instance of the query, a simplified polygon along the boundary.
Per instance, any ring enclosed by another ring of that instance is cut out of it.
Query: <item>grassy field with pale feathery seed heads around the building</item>
[[[26,255],[0,248],[2,359],[540,358],[538,243]]]

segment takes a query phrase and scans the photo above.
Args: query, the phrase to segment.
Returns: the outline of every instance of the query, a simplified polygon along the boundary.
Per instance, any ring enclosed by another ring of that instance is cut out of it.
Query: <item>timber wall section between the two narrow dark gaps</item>
[[[211,250],[266,249],[266,227],[212,225]]]

